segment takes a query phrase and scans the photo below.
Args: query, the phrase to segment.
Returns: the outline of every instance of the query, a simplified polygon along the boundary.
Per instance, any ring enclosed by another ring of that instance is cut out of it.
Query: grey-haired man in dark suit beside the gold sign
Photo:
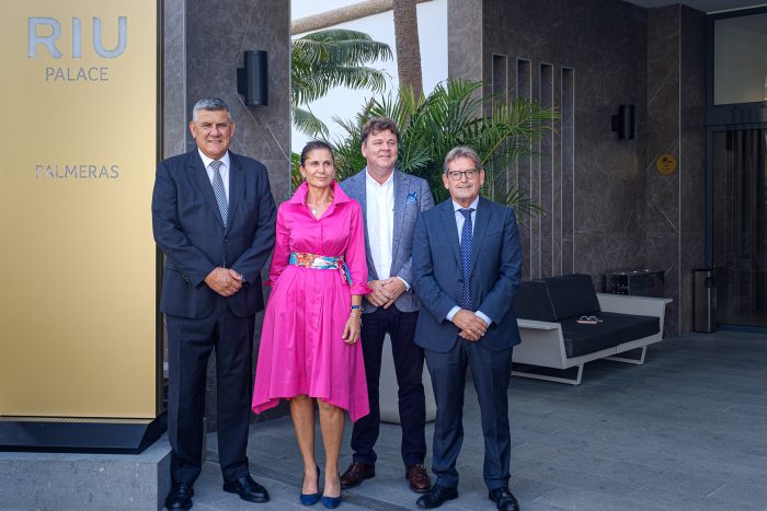
[[[205,376],[216,349],[218,457],[224,490],[265,502],[248,469],[251,351],[264,309],[261,268],[274,246],[266,167],[229,151],[234,123],[219,98],[195,104],[197,148],[158,164],[154,241],[165,254],[160,310],[168,328],[172,488],[168,509],[190,509],[202,469]]]

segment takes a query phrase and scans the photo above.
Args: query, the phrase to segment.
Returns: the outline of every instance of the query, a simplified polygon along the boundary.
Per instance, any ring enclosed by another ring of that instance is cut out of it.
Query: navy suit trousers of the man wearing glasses
[[[461,338],[445,353],[425,350],[437,404],[432,469],[437,476],[438,485],[450,488],[458,486],[456,460],[463,443],[463,390],[466,369],[470,365],[484,435],[484,484],[491,490],[508,486],[508,382],[512,375],[512,348],[489,351],[479,342]]]

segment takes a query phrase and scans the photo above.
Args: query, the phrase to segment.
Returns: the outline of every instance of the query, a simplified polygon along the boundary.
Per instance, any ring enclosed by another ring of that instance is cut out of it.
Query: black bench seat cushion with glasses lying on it
[[[584,325],[577,323],[579,314],[560,322],[568,358],[613,348],[661,332],[661,320],[654,316],[598,311],[585,315],[595,315],[603,321],[596,325]]]

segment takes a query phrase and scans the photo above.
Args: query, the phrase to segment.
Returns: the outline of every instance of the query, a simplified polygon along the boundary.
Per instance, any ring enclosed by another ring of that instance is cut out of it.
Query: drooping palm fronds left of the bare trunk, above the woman
[[[357,31],[331,28],[295,39],[290,49],[290,101],[296,128],[310,137],[327,137],[328,127],[311,113],[309,103],[335,86],[382,92],[386,76],[366,65],[391,58],[388,45]]]

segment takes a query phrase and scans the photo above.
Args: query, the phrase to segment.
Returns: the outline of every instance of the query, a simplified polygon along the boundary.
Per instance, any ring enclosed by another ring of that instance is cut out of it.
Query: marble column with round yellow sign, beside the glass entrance
[[[682,5],[649,11],[648,146],[643,249],[666,271],[666,332],[690,332],[692,269],[705,262],[705,15]],[[660,154],[677,170],[661,175]]]

